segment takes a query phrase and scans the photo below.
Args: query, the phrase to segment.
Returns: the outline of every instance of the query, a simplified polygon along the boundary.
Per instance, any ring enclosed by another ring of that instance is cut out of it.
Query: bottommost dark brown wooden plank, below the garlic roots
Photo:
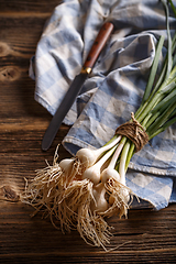
[[[8,206],[8,207],[7,207]],[[13,263],[172,263],[176,257],[175,207],[160,212],[131,210],[128,220],[112,218],[116,227],[111,239],[114,251],[85,245],[76,231],[62,234],[47,219],[30,219],[31,208],[21,204],[1,204],[0,258]],[[116,249],[117,248],[117,249]],[[18,252],[16,252],[18,249]]]

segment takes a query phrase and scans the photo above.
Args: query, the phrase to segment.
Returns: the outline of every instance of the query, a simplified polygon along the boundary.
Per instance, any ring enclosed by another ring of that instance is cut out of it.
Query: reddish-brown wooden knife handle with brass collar
[[[106,22],[102,25],[82,66],[82,72],[85,70],[88,74],[91,72],[112,31],[113,24],[111,22]]]

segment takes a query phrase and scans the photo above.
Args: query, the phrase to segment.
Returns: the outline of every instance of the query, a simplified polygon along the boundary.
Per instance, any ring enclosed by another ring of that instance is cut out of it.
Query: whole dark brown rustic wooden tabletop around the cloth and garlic
[[[131,210],[114,227],[107,252],[87,245],[77,231],[63,234],[47,219],[31,218],[19,201],[24,177],[53,161],[68,128],[41,151],[51,116],[34,101],[29,62],[57,0],[0,0],[0,263],[176,263],[176,205],[161,211]],[[61,147],[61,158],[69,154]]]

